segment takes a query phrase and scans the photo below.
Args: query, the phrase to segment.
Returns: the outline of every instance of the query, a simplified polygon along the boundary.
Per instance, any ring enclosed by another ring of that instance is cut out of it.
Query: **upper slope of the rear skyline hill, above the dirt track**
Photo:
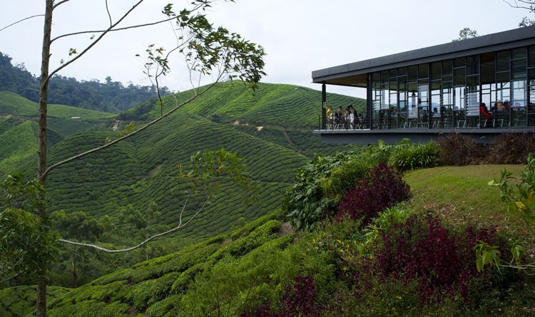
[[[177,101],[181,103],[192,95],[193,90],[185,91],[176,95]],[[360,111],[365,106],[365,100],[327,93],[327,105],[345,108],[350,104]],[[164,113],[174,105],[173,96],[165,97]],[[310,131],[317,128],[321,92],[297,85],[260,83],[253,94],[241,82],[225,82],[211,88],[179,111],[201,115],[218,123],[238,120],[249,125],[307,128]],[[151,118],[156,118],[159,113],[158,105],[151,110]]]

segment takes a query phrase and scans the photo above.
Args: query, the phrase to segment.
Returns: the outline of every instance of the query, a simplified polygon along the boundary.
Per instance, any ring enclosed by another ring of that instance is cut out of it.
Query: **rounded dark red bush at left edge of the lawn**
[[[366,224],[382,209],[410,198],[410,187],[394,167],[379,163],[370,168],[365,177],[357,180],[357,186],[347,191],[338,203],[337,219],[345,214],[353,219],[364,217]]]

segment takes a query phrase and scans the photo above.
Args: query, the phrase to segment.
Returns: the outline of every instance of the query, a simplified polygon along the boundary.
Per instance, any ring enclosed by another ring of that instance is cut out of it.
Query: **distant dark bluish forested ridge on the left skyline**
[[[34,102],[39,101],[39,78],[26,70],[24,63],[14,66],[11,57],[0,52],[0,91],[7,90]],[[49,85],[49,103],[72,105],[74,107],[120,113],[133,108],[136,103],[156,96],[153,86],[141,86],[113,81],[81,80],[54,76]],[[169,88],[161,88],[163,95],[171,93]]]

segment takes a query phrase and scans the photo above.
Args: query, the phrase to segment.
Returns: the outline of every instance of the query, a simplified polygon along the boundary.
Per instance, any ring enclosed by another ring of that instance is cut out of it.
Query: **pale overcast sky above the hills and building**
[[[146,0],[121,26],[154,21],[172,0]],[[0,28],[26,16],[44,13],[44,0],[0,0]],[[118,18],[133,0],[109,0],[111,16]],[[188,1],[175,1],[175,11]],[[225,26],[254,43],[265,57],[265,83],[290,83],[320,90],[311,72],[392,53],[452,41],[469,27],[479,35],[517,28],[529,12],[513,9],[502,0],[236,0],[216,2],[208,12],[215,26]],[[533,19],[533,14],[530,16]],[[53,36],[105,28],[104,0],[71,0],[54,11]],[[0,51],[40,73],[43,18],[30,19],[0,31]],[[68,48],[81,51],[90,35],[66,38],[52,48],[51,69],[68,60]],[[106,76],[123,83],[149,85],[144,60],[136,57],[146,47],[170,47],[175,42],[169,24],[107,36],[96,48],[60,75],[78,80]],[[164,84],[171,90],[190,89],[183,63],[172,65]],[[328,92],[365,96],[357,88],[327,86]]]

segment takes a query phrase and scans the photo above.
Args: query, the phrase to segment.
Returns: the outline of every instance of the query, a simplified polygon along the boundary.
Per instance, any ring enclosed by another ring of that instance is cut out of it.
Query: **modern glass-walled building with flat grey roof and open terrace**
[[[312,72],[322,84],[323,142],[414,142],[460,132],[480,142],[535,132],[535,26]],[[327,115],[327,85],[366,88],[358,115]]]

